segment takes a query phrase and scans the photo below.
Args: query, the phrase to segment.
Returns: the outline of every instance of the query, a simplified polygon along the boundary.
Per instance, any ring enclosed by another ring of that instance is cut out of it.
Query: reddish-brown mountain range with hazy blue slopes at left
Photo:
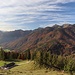
[[[0,45],[11,50],[45,50],[55,54],[75,53],[75,24],[35,30],[0,31]]]

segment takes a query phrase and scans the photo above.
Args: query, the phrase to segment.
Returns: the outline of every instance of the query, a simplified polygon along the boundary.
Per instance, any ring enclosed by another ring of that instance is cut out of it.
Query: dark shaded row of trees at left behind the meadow
[[[30,50],[26,50],[23,53],[16,52],[16,51],[4,51],[2,48],[0,49],[0,60],[14,60],[14,59],[21,59],[21,60],[30,60],[31,54]]]

